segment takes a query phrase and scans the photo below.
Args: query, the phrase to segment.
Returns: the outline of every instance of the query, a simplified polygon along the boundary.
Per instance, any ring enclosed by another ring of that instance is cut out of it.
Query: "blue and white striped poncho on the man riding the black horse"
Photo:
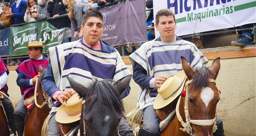
[[[102,51],[93,50],[78,40],[49,48],[56,86],[70,88],[66,76],[87,87],[94,79],[117,81],[131,74],[115,48],[103,42],[101,46]]]

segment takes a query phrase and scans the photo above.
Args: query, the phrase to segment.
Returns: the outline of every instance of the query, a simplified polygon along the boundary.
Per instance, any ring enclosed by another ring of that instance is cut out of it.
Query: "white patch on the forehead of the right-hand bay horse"
[[[207,108],[208,104],[214,97],[214,91],[210,87],[205,87],[202,89],[200,97],[201,97],[202,101],[204,102],[205,107]]]

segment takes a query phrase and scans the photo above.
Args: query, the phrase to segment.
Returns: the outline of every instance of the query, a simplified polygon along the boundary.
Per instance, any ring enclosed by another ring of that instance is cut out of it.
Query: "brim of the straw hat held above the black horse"
[[[82,102],[82,100],[81,100]],[[55,116],[55,120],[59,123],[72,123],[75,122],[77,120],[80,120],[81,118],[81,113],[74,115],[74,116],[69,116],[67,113],[67,109],[65,105],[62,105],[59,107],[56,116]]]

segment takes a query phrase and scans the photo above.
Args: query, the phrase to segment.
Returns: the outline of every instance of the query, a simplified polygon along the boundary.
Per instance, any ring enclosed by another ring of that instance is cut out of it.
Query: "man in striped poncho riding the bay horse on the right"
[[[142,109],[143,129],[139,136],[159,136],[159,118],[153,108],[157,88],[169,75],[182,71],[181,57],[192,68],[204,67],[208,60],[197,47],[175,35],[174,13],[163,9],[156,13],[156,30],[160,37],[144,43],[129,56],[133,67],[133,80],[140,86],[137,106]]]

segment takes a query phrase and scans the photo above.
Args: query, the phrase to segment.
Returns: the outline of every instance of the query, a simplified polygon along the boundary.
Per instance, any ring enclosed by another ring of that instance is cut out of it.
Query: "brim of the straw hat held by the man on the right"
[[[186,76],[186,73],[184,72],[184,70],[182,70],[182,71],[180,71],[180,72],[178,72],[176,74],[176,77],[178,77],[183,82],[181,87],[180,87],[180,89],[176,92],[176,94],[173,97],[170,97],[167,100],[163,99],[162,96],[158,93],[157,96],[156,96],[156,99],[154,101],[154,105],[153,105],[154,109],[163,108],[163,107],[167,106],[168,104],[170,104],[178,96],[180,96],[181,91],[182,91],[182,89],[184,87],[185,80],[186,80],[187,76]],[[173,91],[173,90],[171,90],[171,91]]]

